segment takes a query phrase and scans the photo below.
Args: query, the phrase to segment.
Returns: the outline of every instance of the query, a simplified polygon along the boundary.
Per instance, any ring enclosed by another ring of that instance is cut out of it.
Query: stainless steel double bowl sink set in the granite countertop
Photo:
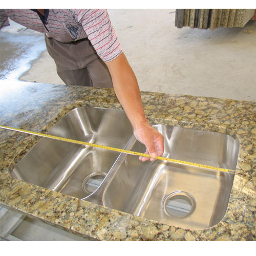
[[[239,143],[232,137],[177,126],[153,127],[164,136],[163,157],[236,169]],[[145,152],[121,110],[74,109],[48,134]],[[234,178],[234,172],[182,162],[141,162],[138,156],[50,138],[41,138],[11,175],[135,216],[195,230],[222,220]]]

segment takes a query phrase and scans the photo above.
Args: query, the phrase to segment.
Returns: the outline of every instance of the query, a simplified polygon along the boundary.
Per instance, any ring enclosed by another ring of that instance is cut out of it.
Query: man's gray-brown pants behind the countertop
[[[45,36],[45,40],[57,73],[66,84],[113,88],[109,70],[89,39],[63,43]]]

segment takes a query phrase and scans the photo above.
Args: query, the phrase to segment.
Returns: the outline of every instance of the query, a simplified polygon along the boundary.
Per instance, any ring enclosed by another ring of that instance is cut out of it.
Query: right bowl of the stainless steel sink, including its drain
[[[155,125],[164,135],[164,157],[235,169],[238,143],[230,136]],[[144,152],[136,142],[131,151]],[[127,155],[105,189],[110,208],[189,229],[216,225],[224,217],[234,174]],[[129,182],[127,182],[129,181]]]

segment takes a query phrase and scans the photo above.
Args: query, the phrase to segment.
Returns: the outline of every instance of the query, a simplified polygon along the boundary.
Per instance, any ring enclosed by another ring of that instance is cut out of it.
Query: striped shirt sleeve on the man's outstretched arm
[[[122,53],[108,11],[105,9],[80,9],[77,10],[77,19],[104,62],[109,62]]]

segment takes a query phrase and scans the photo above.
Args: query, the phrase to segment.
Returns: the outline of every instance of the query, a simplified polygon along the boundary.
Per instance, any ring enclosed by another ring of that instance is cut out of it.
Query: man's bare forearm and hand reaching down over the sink
[[[153,161],[156,156],[163,154],[163,136],[145,117],[136,76],[124,53],[106,62],[106,66],[110,71],[116,96],[133,125],[134,135],[146,146],[146,154],[150,154]],[[149,158],[140,157],[140,160],[146,161]]]

